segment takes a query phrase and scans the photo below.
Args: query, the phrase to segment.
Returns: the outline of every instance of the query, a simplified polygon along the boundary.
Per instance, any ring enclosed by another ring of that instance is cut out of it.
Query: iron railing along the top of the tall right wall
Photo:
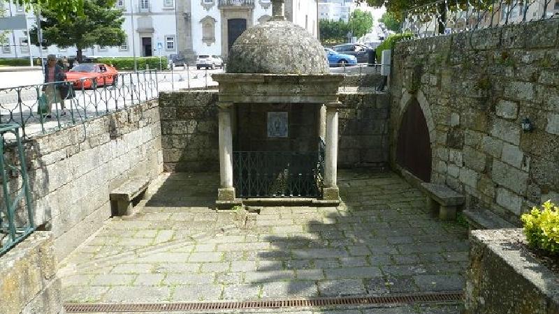
[[[559,18],[556,0],[440,0],[405,10],[402,32],[416,37]]]

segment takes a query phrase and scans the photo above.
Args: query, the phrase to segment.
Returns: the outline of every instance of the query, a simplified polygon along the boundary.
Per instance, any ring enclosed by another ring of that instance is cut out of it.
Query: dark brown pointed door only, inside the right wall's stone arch
[[[431,181],[431,145],[427,121],[417,100],[407,106],[398,132],[396,162],[419,179]]]

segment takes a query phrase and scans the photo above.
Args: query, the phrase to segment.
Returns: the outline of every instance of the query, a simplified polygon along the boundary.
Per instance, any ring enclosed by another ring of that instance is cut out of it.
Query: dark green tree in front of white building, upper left
[[[59,20],[55,10],[42,10],[43,45],[75,46],[78,61],[82,61],[82,51],[92,45],[121,45],[126,39],[124,18],[122,10],[114,6],[115,0],[83,0],[84,13],[68,13],[66,20]],[[38,45],[36,33],[36,28],[31,30],[31,40]]]

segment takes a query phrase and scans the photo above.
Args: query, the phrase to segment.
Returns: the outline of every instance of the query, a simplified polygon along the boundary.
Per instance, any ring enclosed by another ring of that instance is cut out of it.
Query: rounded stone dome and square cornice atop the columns
[[[242,33],[227,73],[212,75],[219,101],[231,103],[334,103],[343,77],[329,73],[319,41],[282,16]]]

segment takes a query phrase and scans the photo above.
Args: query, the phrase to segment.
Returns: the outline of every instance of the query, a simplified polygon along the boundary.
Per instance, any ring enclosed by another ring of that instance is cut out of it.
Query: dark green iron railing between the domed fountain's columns
[[[235,191],[250,197],[322,197],[324,142],[319,151],[235,151]]]

